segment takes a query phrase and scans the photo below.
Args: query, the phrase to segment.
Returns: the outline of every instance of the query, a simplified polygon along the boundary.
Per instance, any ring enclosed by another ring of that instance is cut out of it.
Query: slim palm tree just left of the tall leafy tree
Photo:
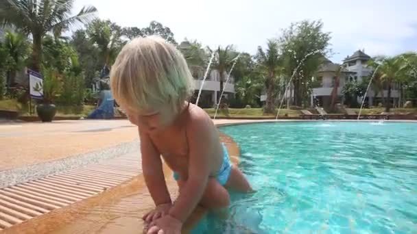
[[[258,47],[257,62],[259,68],[265,74],[266,86],[266,106],[263,112],[274,113],[274,90],[276,79],[281,70],[281,55],[278,51],[278,42],[276,40],[268,40],[266,53],[261,47]]]

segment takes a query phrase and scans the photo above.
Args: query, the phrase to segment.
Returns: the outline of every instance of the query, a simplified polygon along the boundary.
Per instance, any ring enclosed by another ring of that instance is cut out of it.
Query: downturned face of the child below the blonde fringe
[[[126,115],[132,124],[150,133],[165,129],[174,121],[174,115],[164,107],[141,112],[126,110]]]

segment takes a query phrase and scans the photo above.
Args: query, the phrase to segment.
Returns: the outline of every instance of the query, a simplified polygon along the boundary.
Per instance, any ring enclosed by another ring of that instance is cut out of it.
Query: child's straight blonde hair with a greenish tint
[[[193,94],[193,83],[180,51],[157,36],[136,38],[126,44],[110,73],[117,103],[138,112],[169,105],[177,113]]]

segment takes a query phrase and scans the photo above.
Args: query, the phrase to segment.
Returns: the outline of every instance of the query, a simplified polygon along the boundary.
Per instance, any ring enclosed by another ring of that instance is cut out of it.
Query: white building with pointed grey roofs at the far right
[[[339,87],[337,88],[337,103],[343,103],[342,90],[344,85],[348,81],[357,81],[361,82],[365,77],[372,75],[373,70],[367,66],[370,56],[364,53],[364,51],[356,51],[353,55],[346,57],[343,61],[344,68],[342,69]],[[331,103],[331,92],[333,91],[336,79],[336,71],[339,68],[339,64],[333,64],[330,60],[327,60],[319,69],[317,79],[321,82],[321,86],[318,88],[313,88],[313,93],[311,95],[311,106],[313,106],[313,99],[317,99],[320,106],[328,107]],[[398,100],[399,92],[395,89],[396,86],[393,86],[391,90],[391,101],[393,103]],[[383,90],[384,96],[388,96],[388,90]],[[374,100],[374,98],[376,100]],[[379,94],[375,97],[375,92],[370,88],[366,96],[366,102],[369,106],[378,105],[382,103],[382,94]],[[358,98],[358,102],[361,102],[361,99]]]

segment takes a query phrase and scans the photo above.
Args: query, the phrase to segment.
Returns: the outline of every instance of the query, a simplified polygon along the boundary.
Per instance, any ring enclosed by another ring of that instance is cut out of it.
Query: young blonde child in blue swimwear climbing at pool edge
[[[197,205],[227,207],[226,188],[252,190],[239,168],[230,164],[211,118],[189,103],[193,77],[174,45],[155,36],[132,40],[112,66],[110,85],[117,103],[138,126],[143,176],[156,205],[143,216],[151,226],[148,233],[180,233]],[[161,155],[178,181],[175,203],[165,184]]]

